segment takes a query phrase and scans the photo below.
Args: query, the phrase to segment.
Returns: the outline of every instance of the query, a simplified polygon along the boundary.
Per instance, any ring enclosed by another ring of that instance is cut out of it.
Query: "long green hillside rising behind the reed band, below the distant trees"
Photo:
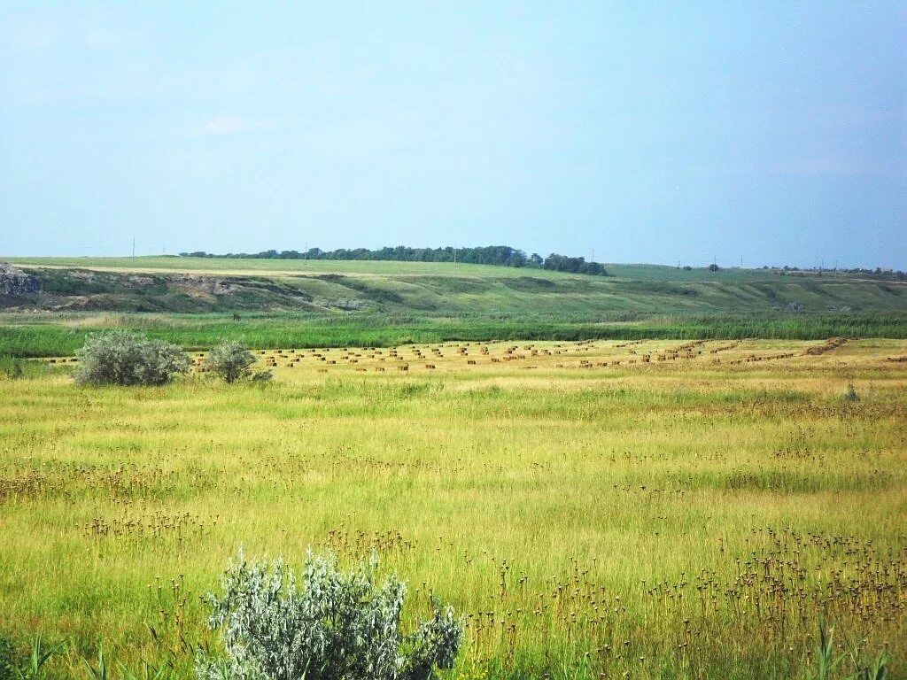
[[[610,277],[419,262],[191,257],[14,259],[41,291],[5,308],[305,311],[439,316],[701,315],[907,311],[907,283],[765,269],[608,266]]]

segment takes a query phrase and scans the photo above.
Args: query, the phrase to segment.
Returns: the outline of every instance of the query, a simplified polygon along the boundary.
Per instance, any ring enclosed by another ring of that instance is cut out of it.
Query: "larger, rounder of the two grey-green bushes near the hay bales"
[[[124,330],[89,335],[76,356],[75,380],[82,384],[167,384],[190,365],[177,345]]]

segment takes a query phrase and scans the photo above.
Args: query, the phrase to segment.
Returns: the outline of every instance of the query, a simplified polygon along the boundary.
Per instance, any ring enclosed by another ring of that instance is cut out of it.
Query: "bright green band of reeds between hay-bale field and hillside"
[[[579,321],[488,321],[275,316],[234,321],[230,316],[113,315],[107,325],[140,330],[188,349],[206,349],[224,337],[257,348],[394,346],[453,340],[639,340],[658,338],[726,339],[746,337],[820,340],[829,337],[907,338],[907,316],[790,316],[778,319],[703,316],[633,324]],[[78,317],[34,323],[17,316],[0,325],[0,355],[73,355],[85,337],[104,327]]]

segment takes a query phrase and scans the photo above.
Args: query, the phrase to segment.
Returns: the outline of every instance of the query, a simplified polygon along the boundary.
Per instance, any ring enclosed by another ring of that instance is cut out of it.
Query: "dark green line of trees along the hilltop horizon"
[[[538,253],[527,256],[522,250],[510,246],[484,246],[479,248],[407,248],[396,246],[377,250],[368,248],[338,248],[322,250],[309,248],[305,252],[298,250],[265,250],[260,253],[228,253],[214,255],[204,250],[193,253],[180,253],[181,257],[237,257],[250,259],[354,259],[354,260],[387,260],[391,262],[463,262],[470,265],[497,265],[499,267],[526,267],[530,269],[548,269],[566,271],[573,274],[590,274],[605,277],[608,272],[597,262],[587,262],[585,257],[567,257],[551,253],[542,258]]]

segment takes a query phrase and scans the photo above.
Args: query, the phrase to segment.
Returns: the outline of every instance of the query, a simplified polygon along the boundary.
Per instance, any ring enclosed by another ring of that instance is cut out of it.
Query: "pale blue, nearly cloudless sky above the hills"
[[[0,255],[907,269],[905,55],[900,0],[0,0]]]

